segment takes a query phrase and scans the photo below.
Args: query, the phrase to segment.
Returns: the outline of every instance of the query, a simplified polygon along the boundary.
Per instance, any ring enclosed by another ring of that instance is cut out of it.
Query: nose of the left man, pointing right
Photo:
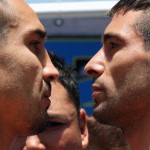
[[[55,68],[55,66],[53,65],[50,57],[48,56],[48,54],[46,53],[46,63],[45,66],[43,68],[43,78],[45,81],[53,81],[56,80],[58,78],[58,70]]]

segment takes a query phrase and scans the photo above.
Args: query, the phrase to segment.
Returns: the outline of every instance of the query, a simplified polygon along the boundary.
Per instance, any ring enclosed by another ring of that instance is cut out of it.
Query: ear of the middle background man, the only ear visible
[[[83,108],[80,109],[80,131],[81,131],[82,148],[85,149],[88,145],[89,135],[86,121],[86,112]]]

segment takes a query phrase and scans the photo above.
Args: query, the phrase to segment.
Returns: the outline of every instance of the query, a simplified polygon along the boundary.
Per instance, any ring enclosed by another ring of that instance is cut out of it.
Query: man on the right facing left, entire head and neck
[[[109,12],[103,47],[85,66],[93,115],[118,126],[133,150],[150,149],[150,0],[120,0]]]

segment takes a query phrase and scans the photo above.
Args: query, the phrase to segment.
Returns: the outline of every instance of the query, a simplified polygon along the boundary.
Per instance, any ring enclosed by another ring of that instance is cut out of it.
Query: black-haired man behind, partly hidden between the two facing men
[[[80,108],[76,73],[54,53],[49,54],[59,70],[59,78],[52,82],[48,126],[40,134],[18,137],[11,150],[82,150],[88,144],[86,112]]]

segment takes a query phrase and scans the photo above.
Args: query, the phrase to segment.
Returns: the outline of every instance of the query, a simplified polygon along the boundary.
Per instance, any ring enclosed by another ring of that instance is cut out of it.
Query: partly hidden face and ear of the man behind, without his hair
[[[81,150],[88,144],[86,113],[77,110],[66,89],[52,83],[51,105],[48,109],[49,125],[38,135],[18,138],[11,150]]]

